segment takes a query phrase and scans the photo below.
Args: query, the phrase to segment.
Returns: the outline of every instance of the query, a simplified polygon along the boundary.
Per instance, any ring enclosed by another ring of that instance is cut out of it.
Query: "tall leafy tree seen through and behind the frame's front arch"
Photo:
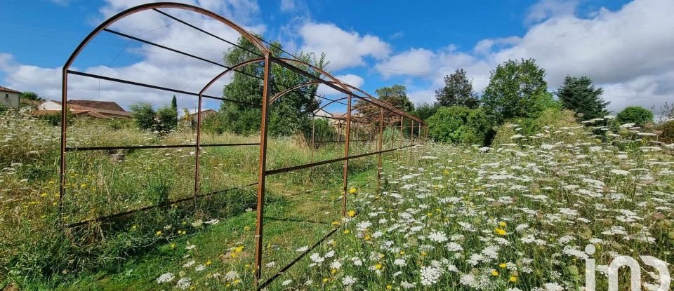
[[[227,66],[231,67],[261,55],[258,48],[245,38],[239,38],[237,45],[225,53],[225,64]],[[281,54],[280,43],[272,43],[270,48],[272,49],[272,55],[279,56]],[[328,64],[325,61],[325,55],[317,58],[313,53],[299,53],[296,56],[305,62],[313,62],[313,65],[321,69]],[[297,67],[319,76],[317,72],[308,67]],[[240,67],[237,72],[234,72],[232,81],[223,88],[223,96],[230,100],[260,104],[262,102],[263,83],[262,80],[254,76],[262,76],[263,71],[264,67],[260,62]],[[270,97],[291,88],[291,86],[309,81],[312,80],[307,76],[291,72],[281,66],[272,65]],[[317,88],[317,85],[298,88],[276,100],[270,107],[270,134],[291,135],[298,131],[311,130],[312,113],[318,108]],[[219,121],[216,124],[223,128],[216,130],[218,132],[230,131],[239,134],[251,134],[260,130],[260,107],[224,101],[220,105],[219,114]]]

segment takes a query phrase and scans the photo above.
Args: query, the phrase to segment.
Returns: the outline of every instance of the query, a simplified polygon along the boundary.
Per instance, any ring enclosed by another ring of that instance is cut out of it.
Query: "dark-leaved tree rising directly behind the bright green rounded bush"
[[[473,92],[473,83],[470,83],[463,69],[456,69],[449,76],[444,76],[444,87],[435,90],[435,97],[437,102],[445,107],[458,105],[477,108],[480,106],[480,100],[477,100]]]

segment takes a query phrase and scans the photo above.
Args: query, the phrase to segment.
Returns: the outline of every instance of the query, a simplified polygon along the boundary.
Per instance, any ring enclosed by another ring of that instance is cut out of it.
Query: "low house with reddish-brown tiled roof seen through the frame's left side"
[[[37,107],[36,115],[58,114],[61,111],[61,102],[49,100]],[[131,112],[121,108],[111,101],[69,100],[68,109],[74,115],[86,115],[97,119],[131,118]]]

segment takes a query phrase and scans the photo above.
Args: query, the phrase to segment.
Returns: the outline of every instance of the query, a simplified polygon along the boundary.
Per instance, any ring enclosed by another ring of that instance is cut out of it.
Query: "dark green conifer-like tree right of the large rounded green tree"
[[[556,92],[562,107],[575,111],[580,120],[596,119],[609,113],[606,107],[611,102],[605,102],[602,93],[604,89],[595,88],[592,79],[587,76],[567,76],[564,85]]]

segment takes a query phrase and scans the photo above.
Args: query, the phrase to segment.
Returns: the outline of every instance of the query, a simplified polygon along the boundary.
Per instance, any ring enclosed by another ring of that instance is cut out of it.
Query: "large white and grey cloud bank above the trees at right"
[[[531,11],[551,3],[556,2],[543,0]],[[590,76],[605,88],[604,99],[612,102],[612,110],[630,104],[658,107],[674,97],[674,54],[670,53],[674,51],[674,18],[670,17],[674,1],[635,0],[617,11],[601,8],[588,18],[569,13],[570,8],[562,11],[546,14],[546,20],[529,27],[524,36],[484,39],[469,53],[451,46],[425,53],[423,63],[431,66],[425,75],[417,72],[418,65],[404,61],[397,62],[397,72],[381,74],[426,76],[430,88],[439,88],[444,75],[463,67],[475,89],[482,90],[498,63],[534,57],[548,73],[550,90],[560,86],[564,76]],[[415,53],[392,55],[378,68],[405,55]]]

